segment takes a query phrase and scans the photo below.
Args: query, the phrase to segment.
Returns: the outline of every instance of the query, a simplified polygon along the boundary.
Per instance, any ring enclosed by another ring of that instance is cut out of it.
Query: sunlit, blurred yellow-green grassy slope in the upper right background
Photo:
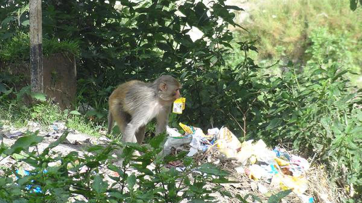
[[[251,0],[249,3],[255,4],[256,9],[251,11],[251,20],[242,25],[251,34],[240,32],[240,36],[258,39],[259,62],[270,65],[281,59],[284,64],[289,60],[306,64],[311,59],[321,62],[331,57],[334,62],[361,73],[362,8],[352,12],[349,0]],[[322,32],[323,35],[316,35]],[[328,40],[329,37],[333,40]],[[325,40],[338,45],[326,45]],[[311,49],[325,54],[317,59]],[[359,77],[351,78],[362,87]]]

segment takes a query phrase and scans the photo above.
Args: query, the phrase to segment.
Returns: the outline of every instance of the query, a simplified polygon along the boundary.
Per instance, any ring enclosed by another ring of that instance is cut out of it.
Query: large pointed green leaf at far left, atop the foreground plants
[[[28,152],[30,146],[34,146],[43,141],[43,137],[37,136],[36,134],[27,135],[21,137],[15,141],[10,149],[5,150],[5,154],[12,155],[14,153],[19,154],[21,151]]]

